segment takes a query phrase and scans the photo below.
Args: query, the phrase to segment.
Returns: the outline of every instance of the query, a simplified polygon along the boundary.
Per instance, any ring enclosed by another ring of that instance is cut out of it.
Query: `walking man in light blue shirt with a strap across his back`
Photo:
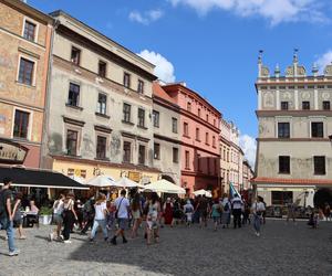
[[[115,232],[113,238],[111,240],[111,243],[114,245],[116,245],[116,237],[118,235],[122,236],[123,243],[128,242],[125,237],[125,230],[128,226],[131,204],[125,197],[126,197],[126,190],[122,190],[121,197],[115,200],[115,206],[116,206],[115,217],[117,219],[118,230]]]

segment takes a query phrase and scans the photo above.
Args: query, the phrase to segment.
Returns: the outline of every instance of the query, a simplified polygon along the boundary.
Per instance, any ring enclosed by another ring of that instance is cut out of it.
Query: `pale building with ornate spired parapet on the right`
[[[332,65],[308,75],[295,52],[283,76],[260,56],[256,88],[258,194],[268,205],[313,205],[314,191],[332,185]]]

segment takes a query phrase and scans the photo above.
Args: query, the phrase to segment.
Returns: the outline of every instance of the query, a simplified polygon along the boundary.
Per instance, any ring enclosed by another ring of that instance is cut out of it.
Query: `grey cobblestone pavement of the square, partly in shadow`
[[[0,275],[332,275],[332,223],[318,230],[268,221],[256,237],[251,226],[163,229],[160,243],[142,237],[113,246],[72,235],[72,244],[48,242],[49,226],[27,230],[21,254],[7,256],[0,240]],[[3,236],[3,232],[1,235]],[[118,241],[120,242],[120,241]]]

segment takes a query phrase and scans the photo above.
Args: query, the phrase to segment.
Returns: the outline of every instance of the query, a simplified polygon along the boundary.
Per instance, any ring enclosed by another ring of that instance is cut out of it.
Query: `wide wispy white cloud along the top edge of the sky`
[[[315,0],[168,0],[174,7],[185,4],[205,15],[212,9],[235,12],[240,17],[260,15],[271,25],[281,22],[324,22],[328,18]]]

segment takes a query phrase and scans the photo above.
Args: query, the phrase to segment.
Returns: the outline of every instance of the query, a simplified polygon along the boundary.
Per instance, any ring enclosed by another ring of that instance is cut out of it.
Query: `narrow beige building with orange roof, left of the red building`
[[[162,178],[180,184],[180,108],[155,82],[153,85],[154,167]]]

